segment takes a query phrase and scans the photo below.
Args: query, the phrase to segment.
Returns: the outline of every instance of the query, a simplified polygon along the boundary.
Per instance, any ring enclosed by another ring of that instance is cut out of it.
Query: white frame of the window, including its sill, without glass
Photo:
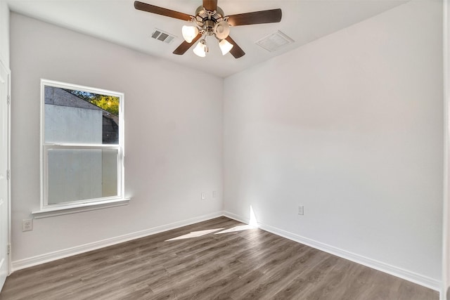
[[[87,91],[100,95],[119,97],[119,143],[118,144],[73,144],[73,143],[46,143],[45,142],[45,86],[75,91]],[[32,211],[34,218],[58,216],[60,214],[72,214],[79,211],[116,207],[128,204],[129,199],[124,197],[124,93],[96,89],[89,86],[67,84],[60,81],[41,79],[41,206],[38,211]],[[101,197],[88,200],[76,200],[58,204],[49,204],[49,176],[47,153],[53,149],[101,149],[117,150],[117,195],[113,197]]]

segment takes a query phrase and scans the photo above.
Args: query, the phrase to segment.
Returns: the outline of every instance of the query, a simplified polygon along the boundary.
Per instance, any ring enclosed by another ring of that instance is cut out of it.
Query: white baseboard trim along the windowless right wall
[[[229,211],[224,211],[224,216],[235,219],[236,221],[240,221],[243,223],[248,223],[250,220],[246,219],[242,216],[238,216]],[[439,280],[435,280],[433,278],[429,278],[424,275],[420,275],[418,273],[411,272],[409,270],[405,270],[403,268],[399,268],[396,266],[392,266],[388,263],[383,263],[381,261],[376,261],[375,259],[369,259],[368,257],[361,256],[359,254],[354,254],[352,252],[348,252],[344,249],[340,249],[337,247],[330,246],[329,244],[324,244],[323,242],[318,242],[316,240],[311,240],[307,237],[302,237],[301,235],[297,235],[295,233],[290,233],[288,231],[276,228],[274,226],[270,226],[264,223],[258,222],[258,227],[262,230],[269,231],[269,233],[274,233],[281,237],[285,237],[289,240],[293,240],[295,242],[300,242],[301,244],[306,244],[309,247],[313,247],[319,249],[323,252],[327,252],[329,254],[333,254],[335,256],[342,257],[343,259],[348,259],[349,261],[354,261],[355,263],[360,263],[361,265],[368,266],[369,268],[373,268],[375,270],[380,270],[381,272],[394,275],[398,278],[408,280],[414,282],[418,285],[422,285],[423,287],[428,287],[430,289],[434,289],[437,292],[442,292],[442,282]]]

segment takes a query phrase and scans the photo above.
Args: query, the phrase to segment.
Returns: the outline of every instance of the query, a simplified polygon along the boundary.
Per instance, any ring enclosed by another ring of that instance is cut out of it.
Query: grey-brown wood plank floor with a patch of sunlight
[[[439,299],[406,280],[236,226],[243,224],[220,217],[18,270],[0,299]],[[243,230],[169,240],[218,228]]]

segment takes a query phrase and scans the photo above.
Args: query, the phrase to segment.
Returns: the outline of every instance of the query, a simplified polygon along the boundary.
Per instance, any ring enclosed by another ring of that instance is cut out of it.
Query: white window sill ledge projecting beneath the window
[[[38,211],[32,211],[31,214],[33,215],[34,219],[48,218],[51,216],[61,216],[63,214],[76,214],[82,211],[91,211],[96,209],[105,209],[108,207],[128,205],[129,200],[129,198],[119,198],[102,202],[73,204],[65,207],[50,207],[39,209]]]

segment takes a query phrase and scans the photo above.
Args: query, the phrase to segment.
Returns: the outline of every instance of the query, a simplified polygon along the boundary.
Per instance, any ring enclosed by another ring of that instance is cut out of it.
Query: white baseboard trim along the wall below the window
[[[175,229],[175,228],[188,226],[188,225],[191,225],[193,223],[207,221],[207,220],[210,220],[210,219],[217,218],[219,216],[224,216],[222,211],[217,211],[217,212],[212,213],[212,214],[206,214],[206,215],[203,215],[203,216],[198,216],[198,217],[187,219],[187,220],[184,220],[184,221],[169,223],[169,224],[166,224],[166,225],[157,226],[157,227],[154,227],[154,228],[149,228],[149,229],[146,229],[146,230],[137,231],[135,233],[129,233],[127,235],[120,235],[120,236],[117,236],[117,237],[110,237],[110,238],[105,239],[105,240],[100,240],[100,241],[97,241],[97,242],[91,242],[91,243],[88,243],[88,244],[82,244],[82,245],[71,247],[71,248],[68,248],[68,249],[58,250],[56,252],[50,252],[50,253],[46,253],[46,254],[33,256],[33,257],[30,257],[30,258],[27,258],[27,259],[20,259],[18,261],[12,261],[12,263],[11,263],[11,273],[16,271],[16,270],[23,269],[23,268],[29,268],[31,266],[37,266],[37,265],[39,265],[41,263],[48,263],[49,261],[56,261],[57,259],[63,259],[63,258],[68,257],[68,256],[72,256],[72,255],[76,255],[76,254],[80,254],[80,253],[84,253],[84,252],[89,252],[89,251],[100,249],[100,248],[103,248],[103,247],[112,246],[113,244],[119,244],[121,242],[127,242],[129,240],[135,240],[135,239],[140,238],[140,237],[146,237],[148,235],[154,235],[156,233],[162,233],[162,232],[167,231],[167,230],[172,230],[172,229]]]

